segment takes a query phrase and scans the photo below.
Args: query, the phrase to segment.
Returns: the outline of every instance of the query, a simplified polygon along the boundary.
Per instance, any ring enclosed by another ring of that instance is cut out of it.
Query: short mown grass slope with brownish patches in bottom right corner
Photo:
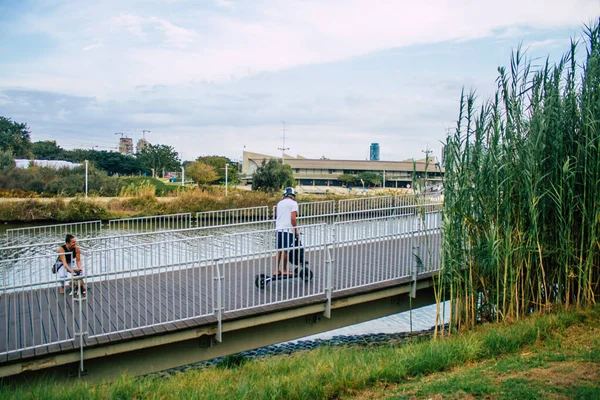
[[[378,383],[344,399],[600,399],[600,320],[557,329],[550,337],[402,384]]]

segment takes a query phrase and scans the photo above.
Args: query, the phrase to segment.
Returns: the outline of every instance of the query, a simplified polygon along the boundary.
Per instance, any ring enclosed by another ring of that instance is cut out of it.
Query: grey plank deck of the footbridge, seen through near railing
[[[407,281],[414,241],[413,236],[334,249],[333,297]],[[185,265],[154,274],[100,277],[88,282],[81,317],[78,303],[73,297],[59,294],[58,287],[2,293],[0,363],[78,348],[80,339],[76,333],[82,330],[87,332],[84,346],[89,347],[214,324],[217,275],[224,282],[224,321],[322,302],[327,271],[325,249],[310,251],[306,257],[314,273],[312,280],[275,281],[264,289],[255,286],[255,276],[270,275],[274,253],[223,262],[218,265],[218,274],[216,265]],[[429,275],[432,270],[420,271],[420,275]]]

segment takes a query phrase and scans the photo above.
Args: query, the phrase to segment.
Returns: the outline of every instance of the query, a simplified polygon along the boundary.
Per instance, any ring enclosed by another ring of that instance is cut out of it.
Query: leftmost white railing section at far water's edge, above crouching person
[[[72,222],[68,224],[40,225],[27,228],[11,228],[6,230],[6,240],[8,244],[21,242],[23,238],[28,243],[33,240],[57,240],[64,238],[67,234],[78,237],[93,237],[102,230],[102,221]],[[23,244],[23,243],[21,243]]]

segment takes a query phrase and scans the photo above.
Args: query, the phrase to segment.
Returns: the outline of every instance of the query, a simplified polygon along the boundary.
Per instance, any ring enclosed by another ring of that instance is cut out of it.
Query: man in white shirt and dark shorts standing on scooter
[[[295,198],[296,191],[294,188],[288,187],[283,191],[283,199],[277,203],[277,219],[275,220],[275,229],[277,230],[277,269],[274,275],[280,273],[294,275],[293,271],[288,271],[287,264],[288,251],[294,246],[294,235],[298,234],[296,222],[298,203]],[[282,258],[283,268],[282,272],[279,272]]]

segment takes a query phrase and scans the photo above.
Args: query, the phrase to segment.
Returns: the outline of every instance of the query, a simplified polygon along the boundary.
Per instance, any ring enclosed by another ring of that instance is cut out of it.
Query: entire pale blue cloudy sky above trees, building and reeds
[[[485,101],[519,45],[557,61],[599,16],[600,0],[0,0],[0,116],[65,149],[439,158],[463,89]]]

